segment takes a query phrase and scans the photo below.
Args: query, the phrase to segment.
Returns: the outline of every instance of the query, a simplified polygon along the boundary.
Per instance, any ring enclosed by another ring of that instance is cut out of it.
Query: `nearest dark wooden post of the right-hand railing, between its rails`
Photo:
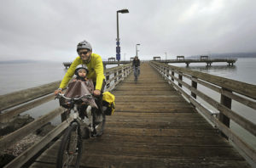
[[[230,92],[230,90],[226,89],[226,88],[222,88],[224,91],[228,91]],[[223,94],[221,94],[220,97],[220,104],[223,104],[225,107],[231,109],[231,103],[232,103],[232,99],[228,98],[226,96],[224,96]],[[222,123],[224,123],[225,126],[230,127],[230,118],[227,117],[226,115],[224,115],[223,113],[219,113],[218,115],[218,120],[220,120]],[[226,139],[229,139],[229,137],[227,137],[226,135],[224,135],[223,132],[221,132],[221,136],[225,137]]]

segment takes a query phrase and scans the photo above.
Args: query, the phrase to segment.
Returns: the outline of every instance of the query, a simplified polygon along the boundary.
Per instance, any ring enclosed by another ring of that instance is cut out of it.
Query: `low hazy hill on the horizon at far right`
[[[210,58],[256,58],[256,53],[211,53],[201,55],[208,55]],[[201,55],[191,55],[187,59],[198,59]]]

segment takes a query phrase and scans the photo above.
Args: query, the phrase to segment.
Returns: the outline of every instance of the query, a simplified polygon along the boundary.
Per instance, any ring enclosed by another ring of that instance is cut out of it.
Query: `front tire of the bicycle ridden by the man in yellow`
[[[67,156],[67,158],[66,158]],[[80,127],[77,122],[73,122],[68,126],[64,137],[61,140],[56,167],[79,167],[79,162],[82,156],[82,139]],[[70,160],[70,159],[74,160]]]

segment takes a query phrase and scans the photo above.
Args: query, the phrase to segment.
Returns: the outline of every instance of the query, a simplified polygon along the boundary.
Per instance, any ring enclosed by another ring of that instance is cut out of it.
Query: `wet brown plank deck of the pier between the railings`
[[[80,167],[250,167],[149,64],[113,91],[102,137],[84,141]],[[31,167],[55,167],[60,140]]]

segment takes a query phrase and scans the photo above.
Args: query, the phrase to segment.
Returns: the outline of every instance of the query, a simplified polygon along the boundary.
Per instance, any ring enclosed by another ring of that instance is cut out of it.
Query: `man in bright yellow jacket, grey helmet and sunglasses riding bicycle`
[[[97,97],[96,104],[99,109],[98,115],[101,115],[103,113],[102,92],[105,87],[105,76],[103,74],[104,69],[103,69],[102,58],[100,55],[96,53],[92,53],[92,48],[90,46],[90,43],[86,41],[79,42],[77,46],[77,53],[79,54],[79,57],[73,60],[73,63],[70,65],[70,68],[67,70],[66,75],[61,81],[60,87],[57,90],[55,90],[55,95],[61,92],[67,86],[67,83],[71,80],[71,78],[75,73],[76,67],[79,64],[82,64],[82,66],[86,66],[87,69],[89,70],[86,77],[93,81],[93,84],[95,87],[93,94],[94,96]]]

